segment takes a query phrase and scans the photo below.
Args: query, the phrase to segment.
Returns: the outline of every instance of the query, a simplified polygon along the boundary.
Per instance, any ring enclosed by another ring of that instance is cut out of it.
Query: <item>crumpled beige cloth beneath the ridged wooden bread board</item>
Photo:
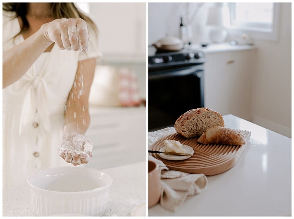
[[[148,133],[148,146],[174,131],[173,127]],[[160,205],[169,211],[176,211],[187,196],[198,195],[206,187],[204,174],[188,174],[182,171],[168,170],[161,161],[149,155],[149,160],[156,162],[161,169]]]

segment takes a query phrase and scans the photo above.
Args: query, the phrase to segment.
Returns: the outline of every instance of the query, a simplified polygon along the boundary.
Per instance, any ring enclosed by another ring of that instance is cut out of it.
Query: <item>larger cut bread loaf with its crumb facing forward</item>
[[[208,108],[189,110],[181,115],[176,123],[175,129],[181,136],[193,138],[201,136],[203,132],[213,126],[225,126],[223,116]]]

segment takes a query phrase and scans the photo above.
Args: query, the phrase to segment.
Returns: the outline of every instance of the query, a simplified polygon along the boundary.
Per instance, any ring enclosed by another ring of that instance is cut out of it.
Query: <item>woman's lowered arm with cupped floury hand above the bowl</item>
[[[88,98],[95,66],[94,58],[78,63],[74,85],[66,101],[64,133],[58,153],[73,165],[86,164],[92,157],[93,142],[83,134],[90,124]]]

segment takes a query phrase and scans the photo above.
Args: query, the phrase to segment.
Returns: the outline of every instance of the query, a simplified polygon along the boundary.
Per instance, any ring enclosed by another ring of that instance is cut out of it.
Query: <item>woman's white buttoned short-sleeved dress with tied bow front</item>
[[[24,41],[15,13],[3,11],[3,51]],[[89,28],[89,27],[88,27]],[[57,150],[64,124],[64,105],[78,61],[100,57],[98,40],[89,29],[86,54],[59,50],[42,54],[26,74],[3,89],[3,188],[26,183],[36,170],[66,166]]]

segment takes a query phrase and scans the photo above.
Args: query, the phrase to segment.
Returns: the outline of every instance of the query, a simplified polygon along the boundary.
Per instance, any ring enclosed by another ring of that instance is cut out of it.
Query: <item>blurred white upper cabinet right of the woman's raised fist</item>
[[[145,3],[90,3],[103,60],[145,61]]]

